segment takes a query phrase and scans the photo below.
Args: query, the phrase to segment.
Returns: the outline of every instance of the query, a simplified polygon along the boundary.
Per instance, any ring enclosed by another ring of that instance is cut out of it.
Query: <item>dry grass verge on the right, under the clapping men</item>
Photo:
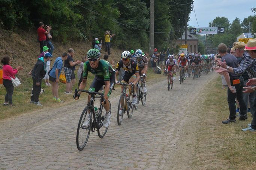
[[[251,123],[248,119],[237,123],[222,124],[229,116],[227,89],[221,88],[220,78],[213,80],[200,95],[204,98],[196,122],[196,139],[190,148],[194,152],[192,167],[199,169],[255,169],[256,133],[243,132]],[[193,127],[195,128],[195,127]]]

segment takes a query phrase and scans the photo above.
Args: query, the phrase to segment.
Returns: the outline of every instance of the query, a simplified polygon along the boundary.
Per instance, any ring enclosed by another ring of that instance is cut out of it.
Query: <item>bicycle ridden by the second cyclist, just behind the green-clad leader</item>
[[[123,114],[127,111],[127,116],[130,119],[131,116],[133,115],[133,109],[134,109],[134,104],[132,104],[131,101],[131,94],[133,93],[133,88],[129,86],[129,84],[126,83],[120,83],[120,85],[123,86],[123,91],[120,95],[119,98],[119,103],[117,107],[117,124],[121,125],[123,121]],[[129,89],[128,94],[126,94],[126,89]],[[122,113],[119,115],[120,110],[122,110]]]

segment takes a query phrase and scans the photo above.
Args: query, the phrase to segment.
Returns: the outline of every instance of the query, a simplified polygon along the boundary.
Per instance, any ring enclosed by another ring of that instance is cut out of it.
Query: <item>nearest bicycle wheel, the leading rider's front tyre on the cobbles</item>
[[[86,115],[87,115],[88,108],[89,108],[89,106],[86,106],[84,108],[84,110],[80,116],[79,122],[78,122],[76,143],[77,143],[77,149],[79,151],[82,151],[84,149],[86,143],[88,142],[89,136],[90,136],[90,128],[92,125],[92,115],[90,116],[89,128],[88,129],[82,128],[84,121],[87,120]],[[91,112],[89,114],[91,114]],[[85,131],[85,133],[83,130]],[[83,135],[86,135],[86,137],[83,137]],[[80,143],[81,143],[81,145],[80,145]]]

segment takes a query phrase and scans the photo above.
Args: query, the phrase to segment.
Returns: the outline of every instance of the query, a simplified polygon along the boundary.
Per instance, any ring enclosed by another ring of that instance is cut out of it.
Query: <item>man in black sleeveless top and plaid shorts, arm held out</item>
[[[73,66],[81,63],[80,60],[74,62],[74,60],[72,58],[72,56],[74,56],[74,54],[75,54],[74,49],[69,48],[68,49],[68,58],[64,61],[64,72],[65,72],[66,81],[67,81],[65,94],[72,94],[72,92],[71,92],[72,83],[74,82],[74,76],[73,76],[73,79],[71,82],[72,68],[73,68]]]

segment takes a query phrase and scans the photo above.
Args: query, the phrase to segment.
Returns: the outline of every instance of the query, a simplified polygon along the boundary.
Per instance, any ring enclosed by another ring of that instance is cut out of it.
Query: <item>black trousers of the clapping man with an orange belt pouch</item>
[[[233,85],[232,80],[230,80],[231,85],[235,86],[236,93],[232,93],[229,88],[227,88],[227,102],[229,103],[229,119],[236,118],[236,106],[235,106],[235,98],[238,100],[240,105],[240,115],[247,114],[247,106],[245,106],[243,99],[243,88],[244,88],[244,79],[240,76],[240,83]]]

